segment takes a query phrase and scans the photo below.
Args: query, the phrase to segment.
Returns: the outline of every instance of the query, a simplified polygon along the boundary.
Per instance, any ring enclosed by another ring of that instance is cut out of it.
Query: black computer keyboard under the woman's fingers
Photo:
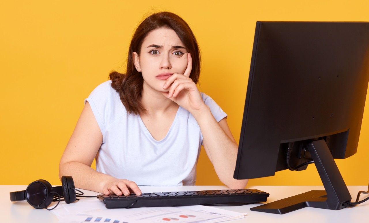
[[[97,195],[107,208],[157,207],[180,205],[245,205],[265,202],[269,193],[257,189],[180,191],[142,193],[142,195]]]

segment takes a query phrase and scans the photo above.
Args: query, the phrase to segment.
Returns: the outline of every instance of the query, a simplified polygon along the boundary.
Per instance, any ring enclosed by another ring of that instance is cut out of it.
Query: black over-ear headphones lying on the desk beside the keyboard
[[[78,200],[76,199],[76,191],[80,192],[77,193],[78,195],[83,195],[82,191],[79,191],[74,187],[72,176],[62,176],[62,186],[52,187],[51,184],[45,180],[37,180],[30,183],[25,191],[10,192],[10,201],[27,200],[27,202],[34,208],[48,209],[47,207],[51,202],[58,200],[59,204],[61,198],[64,198],[65,203],[67,204],[75,202]],[[58,204],[56,206],[58,206]]]

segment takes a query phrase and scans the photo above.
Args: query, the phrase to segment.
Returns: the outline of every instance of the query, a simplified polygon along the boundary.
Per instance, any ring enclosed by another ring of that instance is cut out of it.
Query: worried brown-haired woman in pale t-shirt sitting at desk
[[[199,75],[189,25],[169,12],[146,18],[132,38],[127,73],[111,72],[85,100],[59,177],[106,195],[139,195],[137,185],[194,185],[203,145],[220,180],[244,188],[247,180],[233,179],[238,146],[227,114],[199,92]]]

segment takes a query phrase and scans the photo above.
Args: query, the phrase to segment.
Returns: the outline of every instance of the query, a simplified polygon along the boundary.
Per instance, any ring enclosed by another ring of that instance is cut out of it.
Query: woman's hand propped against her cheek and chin
[[[187,55],[187,68],[183,74],[173,73],[168,78],[163,89],[169,89],[169,92],[162,92],[165,97],[168,97],[179,106],[189,112],[201,110],[205,105],[197,89],[196,83],[192,81],[190,73],[192,71],[192,58],[190,53]]]

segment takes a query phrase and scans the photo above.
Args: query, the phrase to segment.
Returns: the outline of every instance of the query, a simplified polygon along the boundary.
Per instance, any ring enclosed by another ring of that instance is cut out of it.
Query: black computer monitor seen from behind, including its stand
[[[334,158],[358,149],[368,80],[369,23],[256,23],[234,178],[314,162],[325,191],[252,210],[345,207],[351,195]]]

